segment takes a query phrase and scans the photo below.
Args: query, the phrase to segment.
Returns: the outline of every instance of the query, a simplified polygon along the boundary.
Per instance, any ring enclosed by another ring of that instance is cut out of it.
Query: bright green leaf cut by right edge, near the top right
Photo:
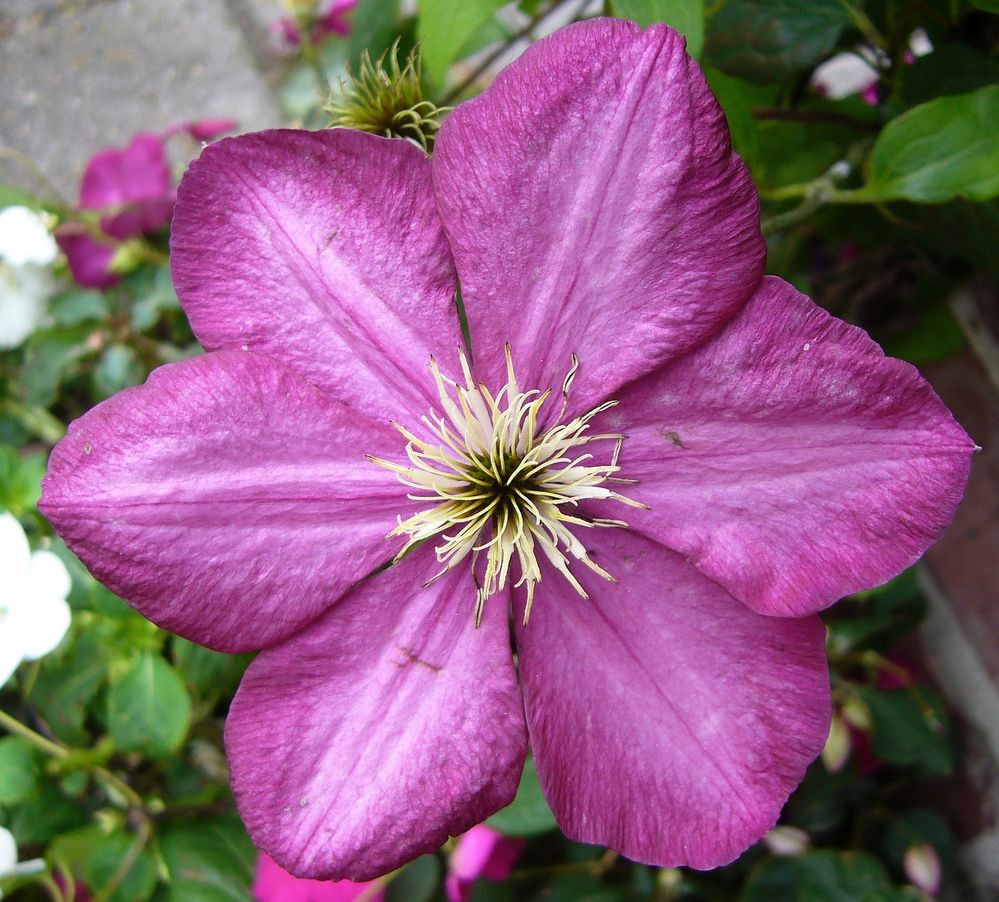
[[[859,200],[939,203],[999,195],[999,85],[940,97],[893,119]]]

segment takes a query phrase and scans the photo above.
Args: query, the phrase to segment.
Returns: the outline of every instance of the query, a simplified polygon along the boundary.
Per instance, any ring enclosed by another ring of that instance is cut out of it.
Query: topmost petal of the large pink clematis
[[[759,204],[683,39],[596,19],[534,44],[433,158],[476,373],[581,410],[703,341],[763,272]],[[523,370],[523,372],[521,372]]]

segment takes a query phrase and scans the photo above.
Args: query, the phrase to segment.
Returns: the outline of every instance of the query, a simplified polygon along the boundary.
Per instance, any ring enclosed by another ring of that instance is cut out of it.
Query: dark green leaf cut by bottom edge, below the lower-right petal
[[[747,881],[739,902],[901,902],[918,896],[894,889],[873,855],[823,849],[771,858]]]

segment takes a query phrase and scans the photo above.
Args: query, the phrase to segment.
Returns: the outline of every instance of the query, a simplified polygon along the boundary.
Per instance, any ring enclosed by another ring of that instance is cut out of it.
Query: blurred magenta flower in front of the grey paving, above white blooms
[[[231,131],[232,119],[206,119],[172,126],[163,135],[136,135],[127,147],[110,147],[94,154],[80,182],[79,209],[107,211],[95,237],[80,224],[60,228],[56,238],[66,254],[73,278],[88,288],[108,288],[118,281],[111,261],[118,244],[166,226],[176,194],[167,159],[166,141],[186,132],[197,141]]]

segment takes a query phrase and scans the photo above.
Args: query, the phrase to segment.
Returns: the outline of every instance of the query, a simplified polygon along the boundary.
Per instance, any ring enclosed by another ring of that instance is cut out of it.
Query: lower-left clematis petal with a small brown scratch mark
[[[254,843],[302,877],[370,880],[517,791],[526,730],[507,605],[424,547],[250,665],[226,723]],[[505,599],[503,599],[505,601]]]

